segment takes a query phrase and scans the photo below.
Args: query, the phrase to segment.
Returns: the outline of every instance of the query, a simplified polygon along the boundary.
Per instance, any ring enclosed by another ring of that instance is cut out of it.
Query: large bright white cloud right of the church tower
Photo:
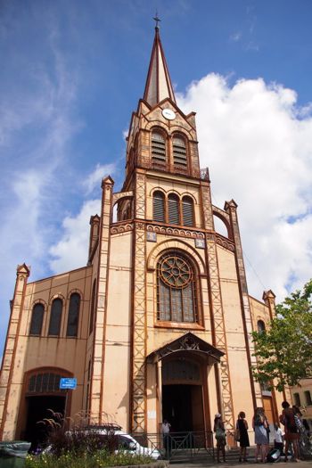
[[[215,74],[178,99],[185,113],[197,111],[213,202],[238,203],[244,254],[278,300],[311,276],[311,104],[302,111],[296,102],[293,90],[261,78],[231,87]],[[262,284],[245,266],[250,293],[261,297]]]

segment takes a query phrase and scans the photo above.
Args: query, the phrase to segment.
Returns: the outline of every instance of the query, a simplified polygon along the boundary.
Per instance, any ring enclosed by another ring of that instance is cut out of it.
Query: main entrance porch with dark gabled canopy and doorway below
[[[159,421],[172,431],[210,431],[208,373],[222,351],[189,332],[155,349],[147,362],[157,365]]]

